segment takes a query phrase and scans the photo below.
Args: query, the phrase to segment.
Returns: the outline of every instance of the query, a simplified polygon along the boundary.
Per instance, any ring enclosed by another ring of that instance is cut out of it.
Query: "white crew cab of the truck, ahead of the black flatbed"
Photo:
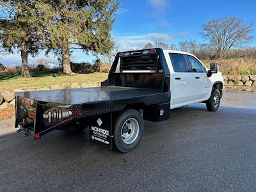
[[[214,89],[221,97],[223,77],[216,63],[212,63],[215,69],[211,71],[189,52],[163,50],[163,54],[170,70],[171,109],[206,102]]]

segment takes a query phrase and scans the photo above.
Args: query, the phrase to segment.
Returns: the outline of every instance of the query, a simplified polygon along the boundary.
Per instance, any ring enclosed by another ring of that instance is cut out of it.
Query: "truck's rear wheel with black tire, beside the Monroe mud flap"
[[[137,128],[129,128],[127,125],[134,125]],[[124,129],[123,129],[124,125]],[[126,127],[125,127],[126,126]],[[114,123],[114,141],[117,150],[123,153],[130,152],[138,146],[144,132],[144,121],[141,114],[134,109],[125,109],[120,115],[116,116]],[[131,131],[137,130],[137,131]],[[126,131],[126,132],[125,132]],[[130,132],[130,133],[129,133]],[[133,133],[132,133],[133,132]],[[127,134],[127,138],[123,135]],[[130,141],[129,141],[130,137]],[[125,143],[126,142],[126,143]]]

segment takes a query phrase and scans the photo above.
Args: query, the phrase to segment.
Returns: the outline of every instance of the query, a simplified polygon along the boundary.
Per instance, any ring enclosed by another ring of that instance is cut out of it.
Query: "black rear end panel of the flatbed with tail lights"
[[[16,96],[15,107],[15,127],[19,128],[17,132],[25,131],[25,136],[32,135],[34,139],[72,121],[72,116],[68,116],[70,106]]]

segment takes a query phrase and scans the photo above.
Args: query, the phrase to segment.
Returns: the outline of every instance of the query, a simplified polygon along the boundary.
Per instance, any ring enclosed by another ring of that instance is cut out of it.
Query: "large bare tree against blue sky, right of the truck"
[[[236,17],[214,19],[202,26],[201,35],[216,50],[218,58],[226,58],[230,48],[243,47],[253,40],[253,23],[244,23]]]

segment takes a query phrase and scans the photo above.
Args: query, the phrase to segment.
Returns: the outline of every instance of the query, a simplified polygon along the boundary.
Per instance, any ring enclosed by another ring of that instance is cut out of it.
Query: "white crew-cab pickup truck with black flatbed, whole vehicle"
[[[166,120],[170,109],[195,102],[216,111],[222,88],[217,64],[207,69],[188,52],[118,52],[100,87],[16,93],[15,127],[35,140],[56,129],[90,127],[92,142],[129,152],[140,143],[143,120]]]

